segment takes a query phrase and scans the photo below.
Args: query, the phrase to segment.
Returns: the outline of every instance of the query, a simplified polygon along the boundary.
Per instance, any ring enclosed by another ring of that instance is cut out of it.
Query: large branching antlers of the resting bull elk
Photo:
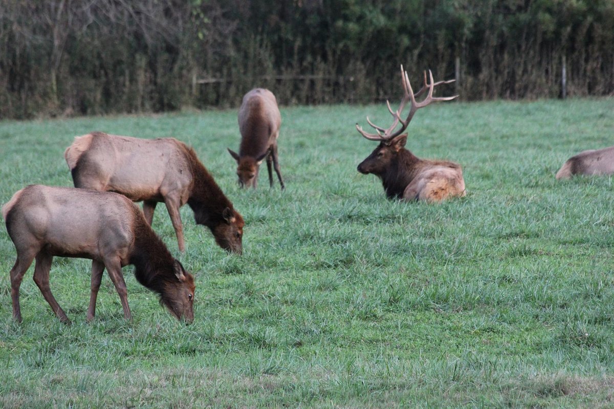
[[[430,83],[427,82],[426,71],[424,71],[424,85],[422,86],[422,89],[420,91],[414,94],[414,91],[411,89],[410,78],[408,77],[407,72],[403,70],[403,66],[401,66],[401,81],[403,83],[403,99],[401,100],[401,103],[398,106],[398,109],[396,111],[393,111],[390,106],[390,102],[386,101],[388,110],[394,117],[394,121],[392,122],[392,125],[389,126],[387,129],[384,129],[384,128],[381,128],[380,126],[373,124],[367,117],[367,122],[373,128],[375,128],[375,131],[377,133],[370,134],[368,132],[365,132],[362,130],[362,127],[359,126],[359,124],[356,124],[356,129],[360,132],[360,134],[363,137],[369,140],[377,140],[377,141],[390,140],[394,138],[395,136],[399,136],[401,132],[405,131],[407,126],[410,124],[411,118],[414,117],[414,114],[416,113],[417,110],[426,107],[431,102],[450,101],[451,99],[454,99],[458,96],[458,95],[454,95],[454,96],[446,96],[446,97],[433,97],[433,90],[435,89],[435,86],[440,85],[440,84],[449,84],[451,82],[454,82],[454,80],[435,82],[433,80],[433,73],[430,70],[429,70],[429,80],[430,80]],[[426,90],[429,91],[427,96],[421,102],[416,102],[416,97],[420,96]],[[403,112],[403,109],[405,108],[405,104],[407,104],[408,101],[411,101],[410,112],[408,113],[405,120],[402,120],[401,113]],[[394,131],[394,129],[397,128],[397,125],[399,122],[401,123],[401,128],[397,129],[397,131]]]

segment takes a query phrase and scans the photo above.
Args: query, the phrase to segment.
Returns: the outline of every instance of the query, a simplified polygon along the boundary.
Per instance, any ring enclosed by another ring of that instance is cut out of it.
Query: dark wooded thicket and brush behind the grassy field
[[[0,118],[614,93],[614,0],[0,0]]]

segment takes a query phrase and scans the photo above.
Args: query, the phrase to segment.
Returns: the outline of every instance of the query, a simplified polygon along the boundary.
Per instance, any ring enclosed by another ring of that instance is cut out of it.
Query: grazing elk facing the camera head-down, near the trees
[[[273,187],[273,172],[279,178],[279,184],[284,189],[284,181],[279,172],[279,158],[277,154],[277,139],[281,126],[281,114],[277,100],[271,91],[264,88],[255,88],[243,97],[239,109],[239,131],[241,132],[241,145],[239,154],[230,148],[228,152],[235,158],[238,166],[236,174],[239,185],[253,186],[258,182],[258,169],[266,158],[266,169],[269,174],[269,185]]]

